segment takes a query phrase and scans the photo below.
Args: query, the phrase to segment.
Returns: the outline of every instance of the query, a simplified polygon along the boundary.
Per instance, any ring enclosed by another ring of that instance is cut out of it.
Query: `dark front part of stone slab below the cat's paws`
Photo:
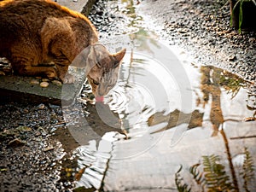
[[[42,103],[55,105],[72,104],[80,89],[75,84],[57,85],[49,82],[48,87],[31,84],[33,77],[0,76],[1,102]],[[62,93],[63,86],[65,91]]]

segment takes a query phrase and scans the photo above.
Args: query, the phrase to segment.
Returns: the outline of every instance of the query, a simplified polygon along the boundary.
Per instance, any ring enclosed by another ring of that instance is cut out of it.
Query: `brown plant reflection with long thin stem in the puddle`
[[[239,78],[235,74],[228,73],[225,70],[217,67],[202,66],[200,72],[200,90],[202,96],[200,97],[199,94],[197,95],[199,96],[197,98],[197,107],[201,106],[202,108],[206,109],[207,105],[210,106],[210,122],[212,124],[213,130],[212,137],[217,136],[218,133],[220,133],[223,137],[234,188],[238,190],[239,188],[236,178],[236,172],[230,154],[229,140],[226,137],[223,127],[225,121],[236,121],[236,119],[224,119],[224,114],[221,108],[221,95],[222,89],[224,89],[227,94],[231,94],[231,99],[233,99],[234,97],[236,97],[241,87],[250,84],[250,82],[247,82]],[[192,113],[183,113],[176,109],[172,113],[169,113],[167,116],[163,115],[163,113],[154,113],[154,115],[152,115],[148,119],[148,125],[156,125],[161,122],[167,121],[168,125],[166,125],[164,129],[161,129],[159,131],[166,131],[181,124],[188,124],[188,129],[201,127],[204,114],[205,113],[200,113],[197,109],[194,110]]]

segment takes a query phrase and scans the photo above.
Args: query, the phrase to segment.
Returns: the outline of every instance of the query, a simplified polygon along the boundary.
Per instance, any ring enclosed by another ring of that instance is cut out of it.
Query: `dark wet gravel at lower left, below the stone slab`
[[[60,108],[12,102],[0,111],[0,191],[56,191],[61,145],[49,133],[61,121]]]

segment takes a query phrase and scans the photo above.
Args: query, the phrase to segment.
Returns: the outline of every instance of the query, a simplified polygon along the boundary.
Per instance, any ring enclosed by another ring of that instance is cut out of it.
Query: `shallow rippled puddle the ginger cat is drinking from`
[[[124,7],[127,1],[119,3]],[[143,28],[102,43],[113,51],[125,47],[127,53],[118,83],[103,102],[90,104],[81,97],[86,108],[64,110],[68,131],[80,145],[73,149],[76,188],[177,191],[188,184],[197,191],[201,185],[189,167],[202,170],[204,157],[213,154],[224,166],[225,186],[256,189],[253,177],[246,184],[243,177],[250,172],[243,170],[245,154],[256,165],[252,82],[194,63]]]

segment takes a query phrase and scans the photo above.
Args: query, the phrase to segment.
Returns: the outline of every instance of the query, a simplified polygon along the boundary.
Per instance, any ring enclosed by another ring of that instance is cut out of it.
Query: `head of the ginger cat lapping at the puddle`
[[[126,49],[110,54],[102,44],[92,45],[86,65],[90,66],[87,78],[95,96],[105,96],[116,84],[119,66],[125,56]]]

